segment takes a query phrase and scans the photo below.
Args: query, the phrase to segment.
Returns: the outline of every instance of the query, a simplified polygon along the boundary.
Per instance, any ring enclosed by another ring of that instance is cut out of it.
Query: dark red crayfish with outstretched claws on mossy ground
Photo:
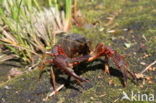
[[[80,34],[66,35],[53,46],[50,52],[46,53],[52,58],[46,60],[43,64],[53,64],[69,77],[73,77],[78,83],[81,83],[88,82],[88,80],[77,75],[73,68],[82,62],[91,62],[104,56],[104,72],[109,74],[109,60],[111,59],[123,75],[124,86],[126,86],[128,78],[131,78],[131,80],[136,79],[135,74],[128,69],[124,57],[118,54],[117,51],[105,46],[103,43],[97,44],[93,50],[91,50],[90,46],[91,41]]]

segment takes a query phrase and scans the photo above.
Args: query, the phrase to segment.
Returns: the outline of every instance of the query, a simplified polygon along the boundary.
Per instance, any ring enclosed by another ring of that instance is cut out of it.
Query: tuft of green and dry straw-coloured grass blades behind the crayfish
[[[25,62],[35,62],[55,43],[55,35],[68,29],[72,1],[64,1],[63,11],[57,2],[48,0],[49,8],[45,8],[37,0],[2,0],[2,44]]]

